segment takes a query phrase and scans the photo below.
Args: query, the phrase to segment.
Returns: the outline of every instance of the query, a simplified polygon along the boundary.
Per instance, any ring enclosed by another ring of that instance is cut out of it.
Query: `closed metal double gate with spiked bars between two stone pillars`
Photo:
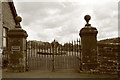
[[[79,69],[81,63],[80,41],[59,44],[40,41],[28,41],[27,64],[30,70]]]

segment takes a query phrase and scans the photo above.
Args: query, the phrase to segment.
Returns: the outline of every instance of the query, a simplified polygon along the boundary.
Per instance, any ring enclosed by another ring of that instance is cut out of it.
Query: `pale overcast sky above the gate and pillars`
[[[91,15],[90,24],[98,30],[98,40],[118,36],[118,0],[14,0],[28,40],[60,43],[76,40]],[[19,1],[19,2],[18,2]]]

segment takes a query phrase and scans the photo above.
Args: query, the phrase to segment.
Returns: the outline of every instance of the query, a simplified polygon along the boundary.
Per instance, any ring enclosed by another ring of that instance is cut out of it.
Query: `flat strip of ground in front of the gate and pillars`
[[[84,73],[77,72],[75,70],[55,70],[42,71],[42,70],[30,70],[28,72],[11,73],[2,71],[2,78],[117,78],[116,74],[99,74],[99,73]]]

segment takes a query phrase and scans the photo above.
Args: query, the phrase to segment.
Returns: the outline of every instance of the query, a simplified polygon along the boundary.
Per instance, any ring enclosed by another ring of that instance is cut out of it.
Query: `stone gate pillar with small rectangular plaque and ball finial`
[[[27,33],[20,27],[21,17],[15,18],[17,25],[14,29],[8,31],[8,51],[9,64],[8,71],[10,72],[24,72],[27,68]]]

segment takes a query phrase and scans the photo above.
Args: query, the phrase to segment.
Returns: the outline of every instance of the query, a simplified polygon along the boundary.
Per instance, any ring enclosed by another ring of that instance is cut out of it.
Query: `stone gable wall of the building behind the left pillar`
[[[13,29],[15,20],[8,2],[0,2],[0,48],[2,48],[2,28]]]

